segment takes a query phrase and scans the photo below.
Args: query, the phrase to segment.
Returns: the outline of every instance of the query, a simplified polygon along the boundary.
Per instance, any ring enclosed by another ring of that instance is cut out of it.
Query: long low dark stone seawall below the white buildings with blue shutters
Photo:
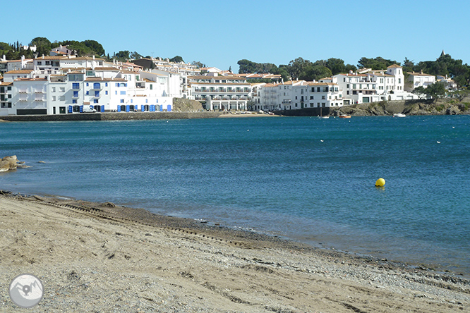
[[[4,121],[128,121],[217,118],[222,114],[224,114],[224,112],[109,112],[56,115],[12,115],[1,116],[1,119]]]

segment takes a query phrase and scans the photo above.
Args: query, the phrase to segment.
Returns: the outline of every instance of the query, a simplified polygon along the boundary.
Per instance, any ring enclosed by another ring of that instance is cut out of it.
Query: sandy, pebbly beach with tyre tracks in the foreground
[[[18,274],[28,312],[470,312],[452,274],[361,259],[142,209],[1,195],[0,311]]]

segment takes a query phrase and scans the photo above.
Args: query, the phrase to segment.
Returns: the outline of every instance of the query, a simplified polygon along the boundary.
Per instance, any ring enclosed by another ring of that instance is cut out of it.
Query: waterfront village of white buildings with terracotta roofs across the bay
[[[447,77],[362,68],[318,81],[289,80],[281,75],[235,74],[198,68],[168,59],[107,62],[76,56],[58,47],[49,56],[0,59],[0,116],[89,112],[174,111],[173,99],[200,101],[206,111],[284,111],[339,108],[350,104],[418,99],[416,87]],[[253,82],[256,79],[270,82]],[[250,82],[247,82],[250,80]]]

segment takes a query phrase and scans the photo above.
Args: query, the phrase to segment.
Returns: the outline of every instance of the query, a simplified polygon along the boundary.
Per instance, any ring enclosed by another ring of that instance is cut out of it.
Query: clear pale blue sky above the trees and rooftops
[[[287,64],[331,57],[470,63],[468,1],[8,1],[0,42],[94,39],[107,53],[182,56],[238,70],[240,59]]]

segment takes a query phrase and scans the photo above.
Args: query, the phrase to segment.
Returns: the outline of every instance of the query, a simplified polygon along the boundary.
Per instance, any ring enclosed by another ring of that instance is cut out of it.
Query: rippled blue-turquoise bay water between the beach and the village
[[[470,273],[470,116],[0,123],[0,131],[0,155],[32,166],[1,173],[1,189]],[[380,177],[385,188],[374,187]]]

